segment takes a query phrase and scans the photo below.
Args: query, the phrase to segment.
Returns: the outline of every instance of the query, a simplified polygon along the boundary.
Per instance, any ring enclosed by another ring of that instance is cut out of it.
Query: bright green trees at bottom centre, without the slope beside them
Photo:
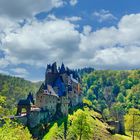
[[[73,140],[84,140],[90,139],[92,126],[92,119],[86,111],[78,109],[73,115],[68,116],[67,120],[67,130],[64,136],[64,124],[63,122],[59,127],[57,123],[51,127],[49,132],[44,137],[44,140],[55,140],[55,139],[73,139]]]

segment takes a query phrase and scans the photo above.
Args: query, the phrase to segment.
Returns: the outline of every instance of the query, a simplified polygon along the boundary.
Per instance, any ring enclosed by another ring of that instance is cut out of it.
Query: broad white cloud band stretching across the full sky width
[[[86,25],[82,32],[74,23],[56,17],[33,20],[3,38],[5,57],[0,63],[45,67],[63,61],[70,67],[140,68],[139,25],[140,14],[122,17],[117,27],[94,31]]]

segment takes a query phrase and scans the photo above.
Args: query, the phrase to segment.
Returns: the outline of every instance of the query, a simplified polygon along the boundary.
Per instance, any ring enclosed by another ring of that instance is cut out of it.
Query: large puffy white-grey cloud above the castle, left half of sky
[[[16,33],[8,34],[3,39],[2,50],[9,63],[42,66],[46,61],[72,57],[73,53],[67,52],[78,51],[79,42],[79,32],[69,21],[35,20],[18,29]]]

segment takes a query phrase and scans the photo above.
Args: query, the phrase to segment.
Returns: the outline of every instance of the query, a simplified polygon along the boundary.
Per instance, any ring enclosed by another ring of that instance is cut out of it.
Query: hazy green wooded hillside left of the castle
[[[40,83],[0,74],[0,106],[3,107],[3,113],[13,114],[18,100],[26,98],[29,92],[35,94],[39,86]]]

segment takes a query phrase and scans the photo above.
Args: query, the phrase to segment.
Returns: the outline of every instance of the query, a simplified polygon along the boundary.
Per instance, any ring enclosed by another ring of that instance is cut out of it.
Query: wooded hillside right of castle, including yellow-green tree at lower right
[[[106,122],[120,122],[120,134],[140,137],[140,70],[93,71],[82,77],[84,102]]]

